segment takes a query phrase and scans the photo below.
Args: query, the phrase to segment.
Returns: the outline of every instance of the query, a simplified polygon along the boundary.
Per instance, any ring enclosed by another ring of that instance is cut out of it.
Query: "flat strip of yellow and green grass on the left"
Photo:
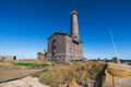
[[[23,70],[23,69],[45,69],[48,67],[48,63],[40,61],[20,61],[20,62],[0,62],[0,69],[10,70]]]

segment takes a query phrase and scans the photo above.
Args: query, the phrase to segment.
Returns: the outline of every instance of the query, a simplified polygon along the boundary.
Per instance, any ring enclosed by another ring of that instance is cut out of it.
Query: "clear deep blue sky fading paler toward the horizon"
[[[84,57],[131,59],[131,0],[0,0],[0,54],[36,58],[55,32],[70,34],[70,12],[79,13]]]

